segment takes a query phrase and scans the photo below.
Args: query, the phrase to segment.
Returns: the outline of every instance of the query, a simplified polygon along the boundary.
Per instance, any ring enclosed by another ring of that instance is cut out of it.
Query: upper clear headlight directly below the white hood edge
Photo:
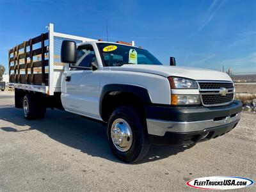
[[[192,79],[183,77],[168,77],[171,88],[173,89],[196,89],[196,82]]]

